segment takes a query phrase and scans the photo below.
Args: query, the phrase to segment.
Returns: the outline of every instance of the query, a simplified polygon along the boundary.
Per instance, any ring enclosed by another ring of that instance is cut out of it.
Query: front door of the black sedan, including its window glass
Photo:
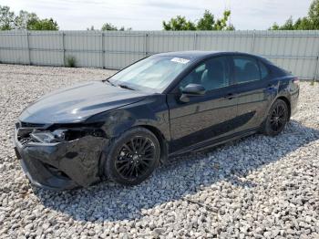
[[[206,93],[180,101],[182,88],[201,84]],[[170,152],[232,134],[236,128],[237,99],[233,96],[230,57],[213,57],[202,62],[180,80],[179,93],[168,95],[170,109]]]

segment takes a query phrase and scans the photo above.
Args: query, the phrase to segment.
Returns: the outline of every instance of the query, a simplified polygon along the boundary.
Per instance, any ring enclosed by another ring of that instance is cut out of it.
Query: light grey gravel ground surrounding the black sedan
[[[319,238],[319,84],[284,132],[175,159],[135,187],[30,187],[12,135],[26,105],[111,71],[0,65],[0,238]]]

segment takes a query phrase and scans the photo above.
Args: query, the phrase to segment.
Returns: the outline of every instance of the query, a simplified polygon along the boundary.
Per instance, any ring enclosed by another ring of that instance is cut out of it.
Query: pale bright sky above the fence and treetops
[[[217,17],[232,11],[236,30],[265,30],[274,22],[283,24],[293,16],[306,16],[312,0],[0,0],[18,14],[35,12],[41,18],[53,17],[61,30],[86,30],[103,23],[132,27],[133,30],[161,30],[162,21],[172,16],[199,19],[205,9]]]

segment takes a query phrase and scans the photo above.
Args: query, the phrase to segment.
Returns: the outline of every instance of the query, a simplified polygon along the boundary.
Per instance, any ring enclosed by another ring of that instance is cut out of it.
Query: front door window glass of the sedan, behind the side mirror
[[[228,57],[214,57],[199,67],[193,69],[190,74],[180,81],[182,90],[188,84],[201,84],[207,91],[214,88],[223,88],[230,85],[231,69]]]

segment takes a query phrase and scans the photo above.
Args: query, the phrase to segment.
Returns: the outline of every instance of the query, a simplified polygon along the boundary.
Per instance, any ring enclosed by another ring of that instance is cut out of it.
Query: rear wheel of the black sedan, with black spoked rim
[[[263,123],[262,133],[269,136],[280,134],[289,119],[287,104],[282,99],[274,101]]]

